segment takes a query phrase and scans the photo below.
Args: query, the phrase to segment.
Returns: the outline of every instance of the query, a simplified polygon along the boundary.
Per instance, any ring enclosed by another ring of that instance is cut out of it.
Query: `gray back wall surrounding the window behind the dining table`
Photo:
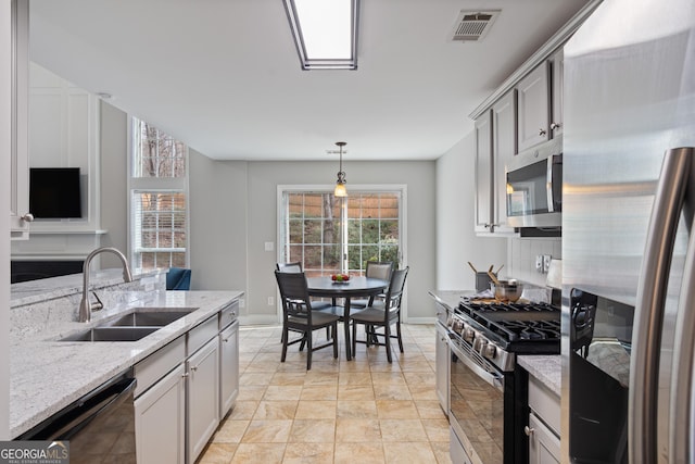
[[[351,185],[407,185],[407,315],[433,316],[427,291],[434,285],[434,162],[348,162]],[[195,289],[245,289],[245,323],[277,323],[273,269],[277,250],[277,186],[331,185],[333,162],[239,162],[191,156],[191,268]]]

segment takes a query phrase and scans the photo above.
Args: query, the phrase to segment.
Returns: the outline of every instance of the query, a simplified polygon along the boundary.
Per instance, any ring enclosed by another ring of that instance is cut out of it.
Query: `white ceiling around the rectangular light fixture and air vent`
[[[301,71],[282,0],[31,0],[31,59],[219,160],[437,159],[585,0],[362,0],[357,71]],[[460,10],[501,9],[479,43]]]

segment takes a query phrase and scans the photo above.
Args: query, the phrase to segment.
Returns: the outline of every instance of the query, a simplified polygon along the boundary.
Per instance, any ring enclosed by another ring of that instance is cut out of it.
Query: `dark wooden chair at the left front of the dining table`
[[[316,350],[332,344],[333,358],[338,358],[338,319],[340,317],[327,312],[313,310],[304,273],[275,271],[275,278],[282,300],[282,354],[280,361],[285,362],[287,348],[294,343],[301,343],[300,351],[306,346],[307,371],[312,368],[312,353]],[[315,347],[313,333],[320,328],[330,329],[332,341]],[[290,331],[299,333],[302,336],[290,340]]]

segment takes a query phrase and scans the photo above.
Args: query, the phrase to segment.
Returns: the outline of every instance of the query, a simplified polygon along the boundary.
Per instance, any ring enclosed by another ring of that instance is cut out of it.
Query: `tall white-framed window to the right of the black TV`
[[[188,267],[188,147],[135,117],[131,130],[132,267]]]

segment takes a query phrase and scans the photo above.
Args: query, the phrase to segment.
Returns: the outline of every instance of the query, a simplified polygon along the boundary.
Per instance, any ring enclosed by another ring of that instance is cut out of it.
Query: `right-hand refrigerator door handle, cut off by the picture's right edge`
[[[691,149],[691,153],[695,150]],[[686,463],[693,460],[691,449],[691,417],[695,403],[692,401],[693,362],[695,362],[695,163],[691,163],[684,216],[690,226],[690,240],[685,254],[685,268],[678,299],[678,315],[673,337],[673,364],[671,371],[671,396],[669,409],[669,463]]]

